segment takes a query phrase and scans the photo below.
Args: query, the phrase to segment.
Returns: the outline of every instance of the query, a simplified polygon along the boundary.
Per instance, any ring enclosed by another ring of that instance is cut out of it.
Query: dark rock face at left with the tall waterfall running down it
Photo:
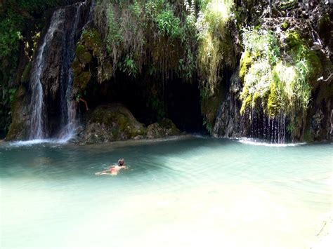
[[[15,96],[6,140],[55,137],[70,123],[70,65],[74,60],[75,44],[89,15],[90,1],[80,1],[58,8],[49,17],[48,25],[41,31],[33,62],[22,75],[20,89],[26,90],[20,90]]]

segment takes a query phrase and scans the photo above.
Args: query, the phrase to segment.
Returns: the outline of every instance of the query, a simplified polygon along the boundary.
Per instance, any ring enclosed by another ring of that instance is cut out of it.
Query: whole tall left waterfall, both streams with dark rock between
[[[90,1],[84,1],[53,13],[32,67],[30,139],[69,140],[75,134],[77,102],[72,95],[71,65],[92,6]]]

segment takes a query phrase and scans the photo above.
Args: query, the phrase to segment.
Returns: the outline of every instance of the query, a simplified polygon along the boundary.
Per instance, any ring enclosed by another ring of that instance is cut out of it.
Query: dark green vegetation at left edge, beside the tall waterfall
[[[11,123],[11,103],[18,89],[15,79],[20,58],[20,44],[32,30],[35,18],[47,8],[64,4],[65,0],[6,0],[0,6],[0,130]],[[30,44],[30,47],[33,44]]]

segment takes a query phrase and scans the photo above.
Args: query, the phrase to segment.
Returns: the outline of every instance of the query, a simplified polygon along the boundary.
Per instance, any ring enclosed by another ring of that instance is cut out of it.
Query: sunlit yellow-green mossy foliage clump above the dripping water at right
[[[262,108],[270,117],[305,112],[311,81],[321,71],[318,56],[296,32],[279,36],[262,29],[244,29],[240,61],[244,87],[241,113]]]

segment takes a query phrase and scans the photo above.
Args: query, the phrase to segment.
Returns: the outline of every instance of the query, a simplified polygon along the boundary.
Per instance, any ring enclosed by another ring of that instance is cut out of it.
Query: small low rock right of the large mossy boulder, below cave
[[[180,135],[176,125],[170,119],[163,119],[159,123],[152,123],[148,126],[147,137],[148,138],[160,138],[169,137],[174,135]]]

